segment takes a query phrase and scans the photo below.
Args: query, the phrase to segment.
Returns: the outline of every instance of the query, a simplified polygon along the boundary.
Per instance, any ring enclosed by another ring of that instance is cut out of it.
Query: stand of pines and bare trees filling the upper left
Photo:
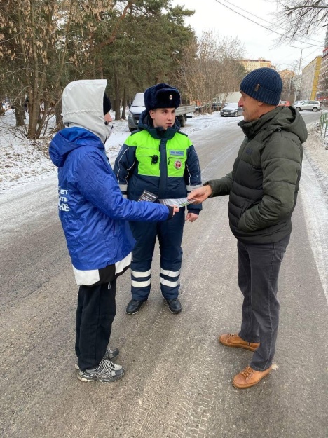
[[[108,78],[116,118],[136,91],[175,81],[193,39],[172,0],[0,1],[0,95],[14,101],[16,125],[29,139],[61,121],[69,81]],[[28,98],[28,118],[24,104]],[[41,104],[41,107],[40,107]],[[122,114],[124,117],[125,114]]]

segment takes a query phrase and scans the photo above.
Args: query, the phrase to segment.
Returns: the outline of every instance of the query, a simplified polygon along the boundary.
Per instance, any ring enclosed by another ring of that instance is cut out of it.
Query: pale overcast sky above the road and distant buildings
[[[220,3],[221,4],[220,4]],[[273,13],[276,11],[276,3],[272,0],[173,0],[172,5],[184,5],[186,9],[195,10],[191,18],[186,18],[186,24],[195,29],[200,36],[203,29],[215,29],[221,36],[236,36],[245,47],[245,57],[258,59],[263,57],[270,60],[278,69],[299,68],[301,50],[287,46],[276,47],[278,34],[284,33],[275,25]],[[226,6],[224,6],[226,5]],[[227,7],[228,6],[228,7]],[[237,13],[229,10],[231,8]],[[238,15],[238,13],[240,15]],[[242,16],[244,15],[244,16]],[[256,15],[256,16],[254,16]],[[253,20],[247,20],[247,18]],[[256,23],[268,27],[264,29]],[[294,42],[293,46],[304,48],[302,53],[301,68],[312,61],[317,55],[322,55],[325,28],[320,28],[317,34],[309,36],[306,43]],[[315,41],[313,41],[315,40]],[[317,45],[319,47],[308,47]],[[308,47],[308,48],[306,48]]]

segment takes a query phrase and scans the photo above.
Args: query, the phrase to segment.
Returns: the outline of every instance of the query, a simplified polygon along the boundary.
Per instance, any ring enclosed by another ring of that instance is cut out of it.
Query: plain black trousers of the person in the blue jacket
[[[82,370],[97,367],[106,353],[116,315],[115,294],[116,279],[78,289],[75,352]]]

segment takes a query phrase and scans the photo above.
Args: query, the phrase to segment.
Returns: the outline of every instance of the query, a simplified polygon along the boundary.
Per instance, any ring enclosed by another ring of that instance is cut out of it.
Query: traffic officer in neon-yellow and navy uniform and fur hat
[[[122,193],[136,200],[144,190],[158,198],[184,198],[200,187],[198,156],[191,140],[179,131],[175,109],[180,104],[177,88],[158,83],[144,92],[146,110],[139,117],[138,130],[125,140],[116,158],[114,172]],[[131,294],[126,313],[133,315],[148,299],[151,262],[156,238],[160,245],[160,290],[172,313],[180,313],[180,271],[184,222],[196,221],[200,205],[185,207],[170,223],[140,224],[130,221],[137,240],[131,263]]]

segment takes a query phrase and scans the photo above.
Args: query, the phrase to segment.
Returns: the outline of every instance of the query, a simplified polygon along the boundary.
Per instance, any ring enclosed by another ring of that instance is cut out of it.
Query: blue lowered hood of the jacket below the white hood
[[[104,149],[100,138],[89,130],[78,127],[68,128],[57,132],[51,140],[49,146],[50,159],[55,166],[62,167],[68,154],[81,146]]]

